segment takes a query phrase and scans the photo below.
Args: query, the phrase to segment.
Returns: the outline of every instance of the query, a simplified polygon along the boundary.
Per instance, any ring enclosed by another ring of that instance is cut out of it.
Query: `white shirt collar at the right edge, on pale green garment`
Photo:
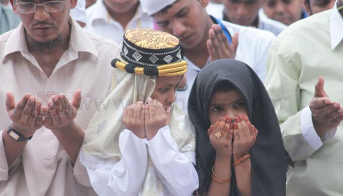
[[[337,2],[337,1],[336,1]],[[332,10],[330,19],[331,49],[335,49],[343,39],[343,17],[337,10],[337,3]]]

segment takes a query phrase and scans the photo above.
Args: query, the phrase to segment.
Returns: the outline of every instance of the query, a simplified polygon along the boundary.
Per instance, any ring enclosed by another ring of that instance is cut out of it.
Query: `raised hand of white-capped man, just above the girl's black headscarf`
[[[207,40],[206,44],[211,62],[222,58],[234,59],[236,57],[238,33],[233,35],[231,45],[229,44],[229,41],[220,25],[212,25],[208,34],[210,39]]]

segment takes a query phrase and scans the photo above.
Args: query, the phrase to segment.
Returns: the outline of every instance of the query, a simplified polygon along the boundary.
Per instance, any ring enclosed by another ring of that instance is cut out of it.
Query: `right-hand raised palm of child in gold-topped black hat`
[[[151,140],[162,127],[169,124],[171,109],[168,116],[162,103],[156,99],[148,98],[145,106],[145,130],[147,140]]]

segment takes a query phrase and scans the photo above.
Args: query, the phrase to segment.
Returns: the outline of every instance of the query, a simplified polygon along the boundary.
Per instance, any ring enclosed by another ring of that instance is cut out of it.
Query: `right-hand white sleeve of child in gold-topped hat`
[[[169,126],[161,128],[154,138],[147,141],[147,149],[158,177],[170,195],[192,195],[199,186],[198,175],[191,161],[195,157],[188,158],[179,152]]]

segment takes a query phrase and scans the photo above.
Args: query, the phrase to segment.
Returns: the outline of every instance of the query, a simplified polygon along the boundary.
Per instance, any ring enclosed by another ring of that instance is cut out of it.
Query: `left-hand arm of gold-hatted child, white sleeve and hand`
[[[143,102],[138,102],[127,107],[123,115],[126,129],[119,135],[121,160],[113,160],[113,164],[97,169],[87,168],[91,184],[99,196],[137,196],[143,186],[147,147],[145,140],[139,138],[142,137],[142,127],[144,132],[144,115],[143,120],[140,117],[144,111],[142,105]]]

